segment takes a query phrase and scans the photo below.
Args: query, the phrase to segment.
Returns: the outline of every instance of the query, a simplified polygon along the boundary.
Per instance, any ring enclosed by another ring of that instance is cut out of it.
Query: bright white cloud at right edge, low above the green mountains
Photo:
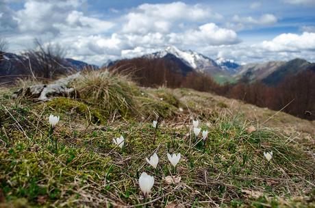
[[[262,42],[262,48],[268,51],[294,52],[303,50],[315,51],[315,33],[281,34],[273,40]]]

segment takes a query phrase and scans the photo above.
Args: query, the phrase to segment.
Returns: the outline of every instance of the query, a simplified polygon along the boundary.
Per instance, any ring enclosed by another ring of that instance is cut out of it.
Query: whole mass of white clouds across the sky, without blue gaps
[[[303,34],[281,34],[256,44],[240,40],[236,31],[275,24],[273,14],[236,15],[225,23],[227,19],[206,5],[144,3],[129,10],[108,9],[115,14],[108,21],[82,11],[85,1],[26,0],[12,10],[8,0],[0,0],[0,31],[9,34],[6,38],[14,49],[25,49],[25,43],[40,38],[62,45],[68,57],[99,65],[108,59],[153,53],[168,45],[238,62],[315,59],[312,25],[301,27]],[[257,1],[249,6],[255,9],[261,5]]]

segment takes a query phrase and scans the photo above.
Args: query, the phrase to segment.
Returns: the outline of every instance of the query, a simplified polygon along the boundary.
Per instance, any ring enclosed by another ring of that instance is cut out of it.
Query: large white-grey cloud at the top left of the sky
[[[41,1],[27,0],[24,8],[16,12],[18,27],[21,32],[36,34],[52,33],[81,29],[84,32],[101,32],[113,26],[112,23],[97,18],[84,16],[76,9],[82,1]]]

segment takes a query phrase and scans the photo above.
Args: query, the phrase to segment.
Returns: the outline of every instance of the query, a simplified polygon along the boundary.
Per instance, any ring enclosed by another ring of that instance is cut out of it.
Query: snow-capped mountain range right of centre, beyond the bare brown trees
[[[288,62],[273,61],[253,64],[238,64],[234,60],[218,57],[212,60],[201,53],[183,51],[176,47],[166,47],[162,51],[143,55],[149,59],[162,58],[172,61],[181,68],[181,73],[191,71],[211,75],[218,83],[247,81],[262,81],[267,85],[276,85],[286,75],[297,75],[306,69],[314,69],[315,64],[296,58]]]

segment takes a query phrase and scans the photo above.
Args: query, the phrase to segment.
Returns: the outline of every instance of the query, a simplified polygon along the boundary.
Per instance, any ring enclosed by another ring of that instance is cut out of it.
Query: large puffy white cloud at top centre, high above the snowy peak
[[[123,25],[125,33],[146,34],[149,32],[167,33],[179,22],[200,22],[223,18],[208,7],[199,4],[188,5],[183,2],[144,3],[125,15],[127,23]]]

